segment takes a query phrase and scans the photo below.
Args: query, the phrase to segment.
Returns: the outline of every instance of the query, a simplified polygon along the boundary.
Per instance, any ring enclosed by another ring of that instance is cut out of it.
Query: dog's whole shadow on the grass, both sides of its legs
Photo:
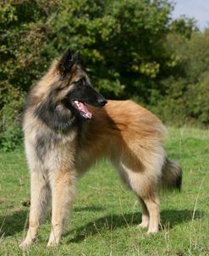
[[[85,208],[75,208],[74,214],[80,211],[102,211],[102,207],[90,206]],[[14,214],[0,216],[0,237],[14,236],[16,233],[27,229],[28,210],[19,210]],[[163,210],[161,212],[162,229],[163,226],[169,225],[172,229],[174,225],[179,225],[183,222],[190,222],[192,218],[200,219],[203,212],[195,211],[195,216],[192,216],[193,211],[189,209],[184,210]],[[74,233],[74,237],[69,242],[82,242],[86,237],[97,235],[100,231],[109,230],[113,231],[121,227],[129,227],[138,225],[140,222],[141,214],[135,212],[133,214],[109,214],[97,220],[93,220],[79,228],[70,230],[65,233],[64,237]]]

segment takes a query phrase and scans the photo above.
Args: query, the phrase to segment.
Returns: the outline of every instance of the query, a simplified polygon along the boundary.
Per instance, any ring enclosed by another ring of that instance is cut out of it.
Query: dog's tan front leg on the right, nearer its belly
[[[47,246],[57,245],[75,193],[75,175],[71,170],[58,170],[52,178],[52,231]]]

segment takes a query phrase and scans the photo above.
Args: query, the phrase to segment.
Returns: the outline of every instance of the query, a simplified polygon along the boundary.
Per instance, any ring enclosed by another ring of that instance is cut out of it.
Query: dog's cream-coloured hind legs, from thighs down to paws
[[[158,181],[161,176],[163,153],[149,156],[148,161],[120,159],[114,164],[122,181],[137,195],[142,207],[142,221],[138,227],[148,227],[148,233],[157,233],[160,223]],[[143,168],[142,168],[143,167]]]

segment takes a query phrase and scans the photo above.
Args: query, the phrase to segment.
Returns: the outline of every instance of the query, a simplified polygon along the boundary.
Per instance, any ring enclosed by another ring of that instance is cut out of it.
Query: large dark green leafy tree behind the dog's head
[[[9,84],[19,92],[28,91],[47,70],[49,62],[66,47],[73,51],[80,49],[93,85],[106,97],[127,98],[135,92],[147,102],[149,89],[163,66],[162,42],[168,31],[170,12],[171,6],[164,0],[1,3],[3,120],[8,120],[8,116],[13,119],[17,114],[16,109],[11,114],[5,112],[5,109],[11,112],[12,107],[4,86]],[[9,97],[15,102],[12,94]],[[1,146],[16,144],[17,124],[5,125],[2,121]]]

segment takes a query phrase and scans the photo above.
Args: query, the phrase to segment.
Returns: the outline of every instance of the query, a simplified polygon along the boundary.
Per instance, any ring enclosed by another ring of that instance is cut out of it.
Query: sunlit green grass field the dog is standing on
[[[140,208],[107,162],[78,184],[69,225],[58,248],[47,248],[49,216],[36,243],[19,250],[25,236],[30,185],[24,150],[0,153],[0,255],[208,255],[209,131],[169,128],[168,156],[184,170],[181,193],[162,193],[162,230],[136,229]]]

